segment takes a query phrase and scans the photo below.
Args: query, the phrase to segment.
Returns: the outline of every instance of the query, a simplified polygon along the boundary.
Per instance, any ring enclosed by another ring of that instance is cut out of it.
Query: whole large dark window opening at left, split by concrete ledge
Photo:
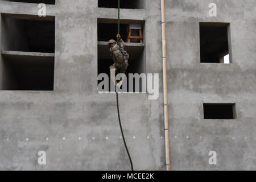
[[[53,90],[55,18],[1,14],[1,90]]]

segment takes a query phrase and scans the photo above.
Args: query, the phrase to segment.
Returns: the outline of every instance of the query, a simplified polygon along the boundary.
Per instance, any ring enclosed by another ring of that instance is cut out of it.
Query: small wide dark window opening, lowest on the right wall
[[[236,104],[204,104],[204,119],[236,119]]]

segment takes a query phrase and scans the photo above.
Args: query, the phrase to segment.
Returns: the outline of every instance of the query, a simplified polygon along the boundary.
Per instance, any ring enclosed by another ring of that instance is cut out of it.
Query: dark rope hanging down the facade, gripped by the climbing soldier
[[[118,42],[118,44],[119,44],[120,39],[121,39],[121,35],[120,35],[120,0],[118,0],[118,23],[117,23],[117,42]],[[117,96],[117,115],[118,115],[119,126],[120,126],[120,130],[121,130],[121,134],[122,134],[123,144],[125,144],[125,149],[126,149],[126,152],[127,152],[128,157],[129,157],[130,164],[131,164],[131,171],[133,171],[133,161],[131,160],[129,150],[128,150],[128,147],[127,147],[126,142],[125,142],[125,135],[123,134],[123,129],[122,129],[122,123],[121,123],[120,112],[119,112],[119,102],[118,102],[117,90],[115,90],[115,94]]]

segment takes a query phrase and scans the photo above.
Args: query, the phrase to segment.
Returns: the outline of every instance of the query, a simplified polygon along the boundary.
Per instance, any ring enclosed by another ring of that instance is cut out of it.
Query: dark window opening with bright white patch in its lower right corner
[[[200,23],[201,63],[231,63],[228,30],[228,23]]]

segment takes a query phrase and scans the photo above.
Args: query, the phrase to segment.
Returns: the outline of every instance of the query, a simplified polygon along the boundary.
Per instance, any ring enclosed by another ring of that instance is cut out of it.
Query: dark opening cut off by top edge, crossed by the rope
[[[122,0],[120,7],[122,9],[145,9],[146,0]],[[98,0],[98,7],[117,8],[117,0]]]

